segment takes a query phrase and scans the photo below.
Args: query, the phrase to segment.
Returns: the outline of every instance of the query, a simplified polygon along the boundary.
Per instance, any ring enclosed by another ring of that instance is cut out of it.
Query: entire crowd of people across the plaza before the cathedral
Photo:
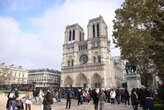
[[[27,89],[26,95],[19,98],[19,93],[16,88],[11,89],[8,93],[8,101],[6,104],[7,110],[15,110],[17,107],[19,110],[32,110],[31,104],[40,104],[41,110],[51,110],[53,104],[53,98],[56,98],[56,103],[60,103],[62,98],[66,99],[66,109],[71,108],[72,99],[77,99],[77,106],[84,103],[94,104],[95,110],[104,110],[105,103],[111,104],[125,104],[133,110],[138,110],[141,107],[142,110],[153,110],[153,91],[147,89],[144,86],[141,88],[133,88],[131,92],[127,89],[66,89],[64,91],[44,91],[42,89],[36,91],[36,89]]]

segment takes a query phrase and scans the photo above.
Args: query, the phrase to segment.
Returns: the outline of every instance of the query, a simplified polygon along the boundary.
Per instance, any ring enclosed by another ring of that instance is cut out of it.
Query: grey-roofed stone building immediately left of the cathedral
[[[61,72],[53,69],[35,69],[28,71],[28,84],[35,87],[59,87]]]

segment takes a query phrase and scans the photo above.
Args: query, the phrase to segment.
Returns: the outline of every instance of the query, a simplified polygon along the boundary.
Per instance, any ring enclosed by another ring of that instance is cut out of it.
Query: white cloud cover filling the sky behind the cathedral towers
[[[115,0],[66,0],[58,7],[49,8],[42,17],[32,18],[30,23],[38,30],[37,34],[22,32],[18,22],[1,18],[0,53],[6,60],[9,58],[10,63],[59,69],[66,25],[79,23],[87,37],[89,19],[102,15],[111,39],[112,20],[118,7],[120,4]],[[112,54],[119,55],[119,50]]]

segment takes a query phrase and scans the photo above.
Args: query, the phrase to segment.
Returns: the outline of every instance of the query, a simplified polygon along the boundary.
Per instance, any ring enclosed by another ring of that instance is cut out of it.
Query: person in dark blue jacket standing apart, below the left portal
[[[72,100],[72,91],[71,89],[68,89],[66,92],[66,109],[71,108],[71,100]]]

